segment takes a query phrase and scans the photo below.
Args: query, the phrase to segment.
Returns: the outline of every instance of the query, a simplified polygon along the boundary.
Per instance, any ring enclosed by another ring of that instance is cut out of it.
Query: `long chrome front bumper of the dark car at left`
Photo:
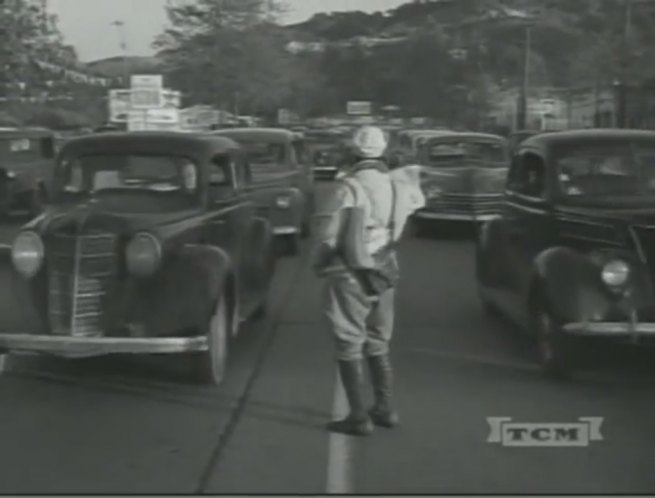
[[[91,357],[107,354],[173,354],[207,351],[202,337],[70,337],[0,334],[0,350]]]

